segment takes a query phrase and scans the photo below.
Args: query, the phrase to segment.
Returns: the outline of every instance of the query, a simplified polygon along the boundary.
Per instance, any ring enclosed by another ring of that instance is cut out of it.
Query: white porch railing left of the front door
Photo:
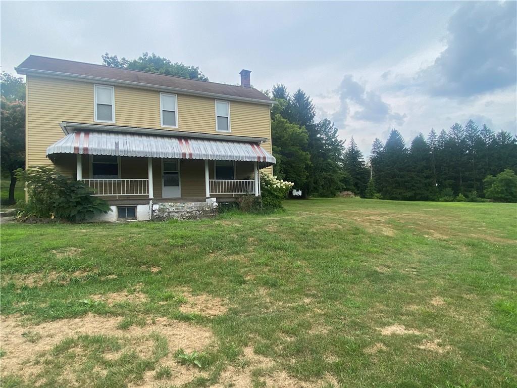
[[[92,188],[96,196],[149,196],[147,179],[83,179],[86,186]]]

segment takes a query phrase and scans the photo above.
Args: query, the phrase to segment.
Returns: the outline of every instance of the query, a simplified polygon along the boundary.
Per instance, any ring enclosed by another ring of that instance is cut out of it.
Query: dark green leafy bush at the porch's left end
[[[22,216],[77,222],[110,211],[108,203],[93,196],[83,182],[72,180],[53,168],[31,167],[17,171],[17,177],[25,180],[28,190]]]

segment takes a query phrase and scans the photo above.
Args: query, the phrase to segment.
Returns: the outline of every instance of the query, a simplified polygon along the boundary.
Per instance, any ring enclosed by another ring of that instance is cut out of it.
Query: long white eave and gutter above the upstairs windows
[[[79,80],[94,81],[94,82],[108,82],[108,83],[114,84],[114,85],[132,86],[132,87],[138,87],[138,88],[143,88],[143,89],[153,89],[153,90],[162,91],[162,92],[174,92],[174,93],[180,93],[180,94],[187,94],[187,95],[191,95],[191,96],[202,96],[202,97],[211,97],[211,98],[222,98],[222,99],[232,100],[232,101],[253,102],[253,103],[260,103],[260,104],[270,105],[270,106],[272,106],[276,103],[276,101],[273,101],[273,100],[261,100],[261,99],[255,99],[255,98],[229,96],[226,94],[199,92],[199,91],[192,91],[189,89],[181,89],[181,88],[177,88],[177,87],[159,86],[159,85],[153,85],[153,84],[141,83],[141,82],[132,82],[132,81],[121,81],[121,80],[114,80],[112,78],[83,76],[81,74],[62,73],[62,72],[58,72],[58,71],[27,69],[27,68],[23,68],[23,67],[15,67],[14,70],[16,70],[18,72],[18,74],[23,74],[23,75],[33,74],[33,75],[43,75],[43,76],[55,77],[55,78],[79,79]]]

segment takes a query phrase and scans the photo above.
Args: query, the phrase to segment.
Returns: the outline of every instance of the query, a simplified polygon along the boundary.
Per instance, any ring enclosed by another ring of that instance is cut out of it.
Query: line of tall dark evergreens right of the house
[[[277,101],[271,111],[273,173],[306,196],[334,197],[347,190],[390,200],[475,200],[492,187],[486,178],[505,170],[510,187],[517,185],[511,177],[517,171],[517,138],[507,131],[495,133],[469,120],[449,131],[432,129],[427,139],[419,133],[406,147],[393,129],[386,143],[374,140],[367,161],[353,137],[345,147],[330,120],[314,121],[314,105],[301,89],[290,95],[279,84],[271,96]]]

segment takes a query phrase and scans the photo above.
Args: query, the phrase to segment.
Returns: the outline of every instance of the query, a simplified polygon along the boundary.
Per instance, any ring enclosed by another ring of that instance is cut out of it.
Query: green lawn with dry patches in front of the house
[[[515,204],[285,207],[3,225],[2,386],[517,386]]]

